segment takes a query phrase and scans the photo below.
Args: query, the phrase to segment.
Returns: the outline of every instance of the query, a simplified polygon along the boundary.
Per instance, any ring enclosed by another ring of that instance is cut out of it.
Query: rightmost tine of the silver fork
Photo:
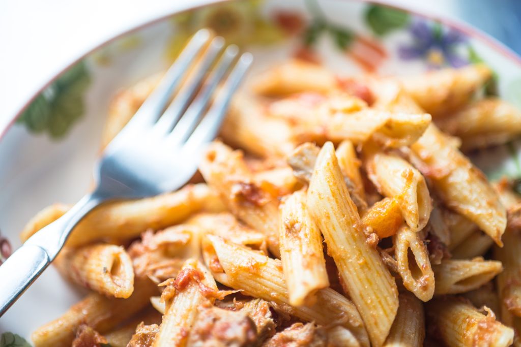
[[[243,53],[241,55],[212,107],[210,107],[201,123],[199,123],[187,140],[184,146],[185,150],[183,150],[185,153],[196,153],[202,149],[202,145],[210,142],[217,136],[233,93],[239,87],[252,62],[253,56],[251,53]]]

